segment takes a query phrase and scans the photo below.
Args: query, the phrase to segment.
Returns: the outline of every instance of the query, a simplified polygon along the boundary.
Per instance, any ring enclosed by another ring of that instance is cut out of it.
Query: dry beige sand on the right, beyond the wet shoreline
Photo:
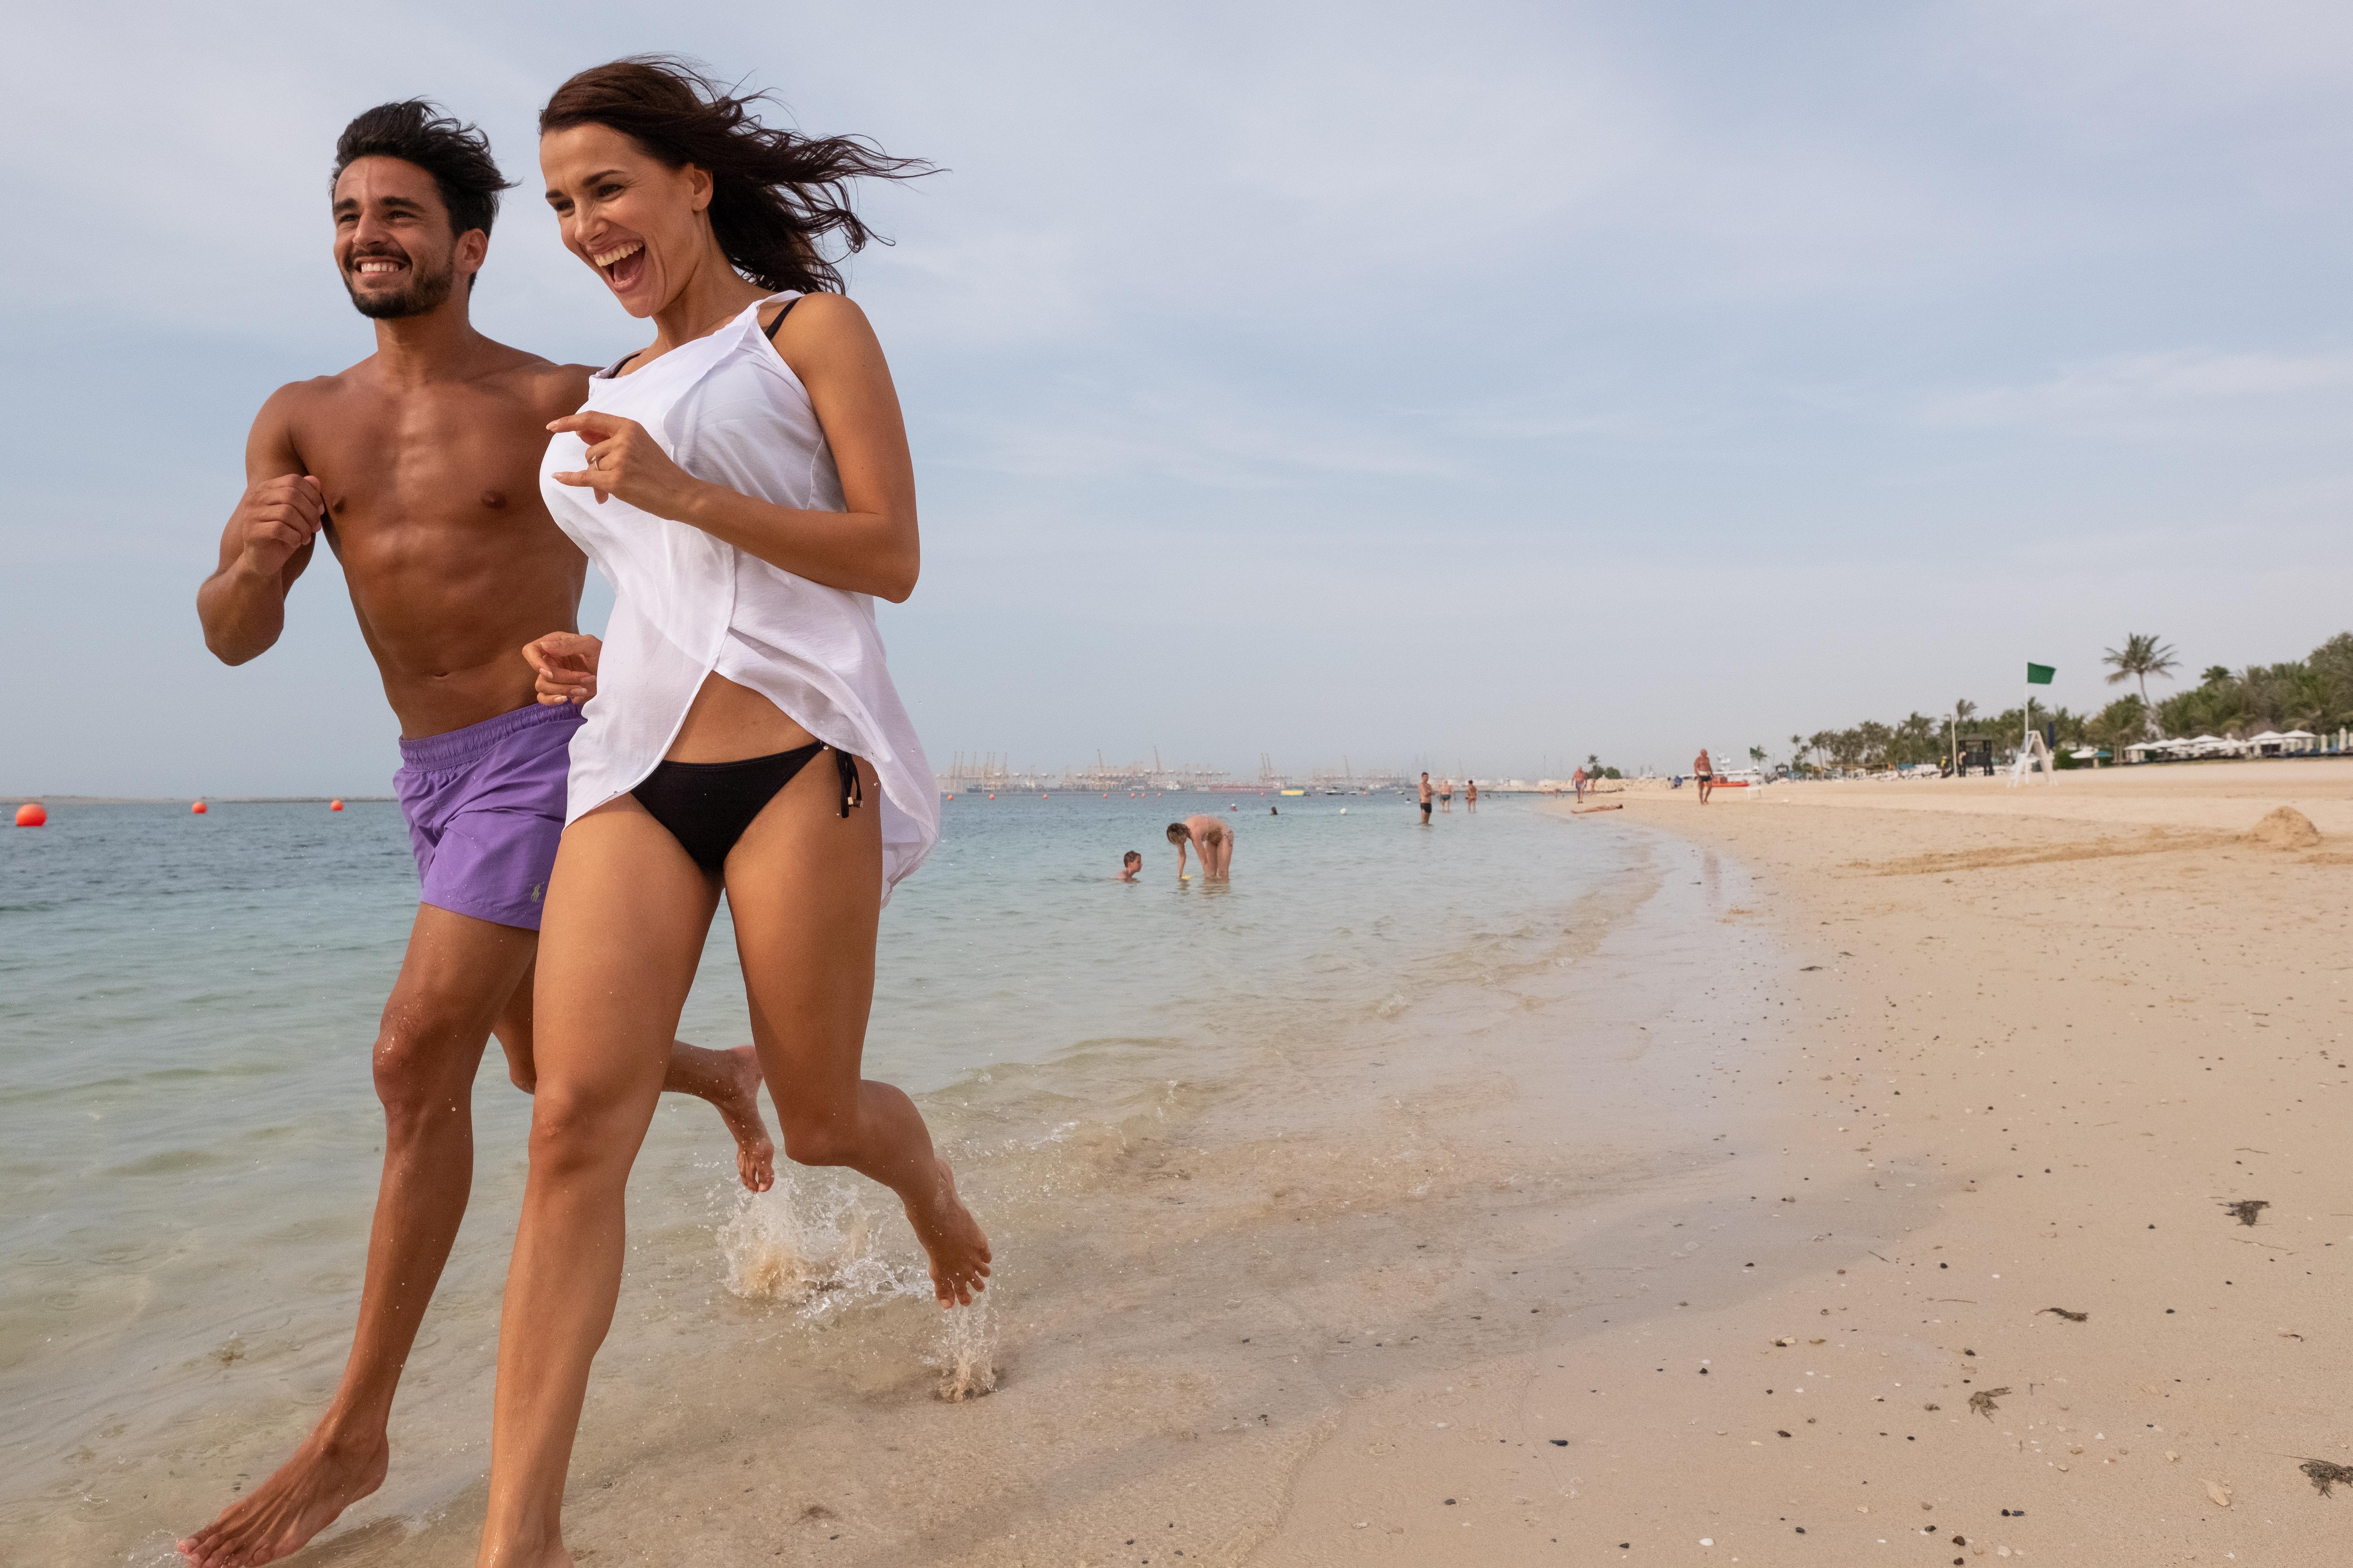
[[[1758,1218],[1351,1410],[1257,1561],[2353,1561],[2353,766],[1624,799],[1786,947]]]

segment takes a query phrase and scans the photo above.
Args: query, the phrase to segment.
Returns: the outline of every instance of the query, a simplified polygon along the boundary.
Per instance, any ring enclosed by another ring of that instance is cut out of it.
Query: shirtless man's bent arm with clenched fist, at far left
[[[287,590],[311,564],[327,498],[301,470],[287,409],[294,388],[271,393],[245,437],[245,496],[221,529],[221,564],[195,590],[205,646],[224,665],[256,658],[287,623]]]

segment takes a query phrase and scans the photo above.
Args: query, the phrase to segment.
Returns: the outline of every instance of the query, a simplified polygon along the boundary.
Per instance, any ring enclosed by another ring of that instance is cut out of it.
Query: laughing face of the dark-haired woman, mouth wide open
[[[671,303],[711,254],[711,176],[694,165],[673,169],[609,125],[572,125],[539,139],[539,172],[565,249],[635,317]]]

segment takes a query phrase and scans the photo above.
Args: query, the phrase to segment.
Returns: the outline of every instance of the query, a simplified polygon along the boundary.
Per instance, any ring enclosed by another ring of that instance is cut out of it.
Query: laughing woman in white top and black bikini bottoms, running
[[[628,1168],[722,891],[786,1154],[896,1192],[941,1305],[988,1274],[915,1105],[859,1077],[880,907],[939,804],[871,599],[915,588],[906,430],[819,242],[868,237],[852,179],[922,165],[765,129],[659,59],[579,73],[539,132],[565,247],[654,341],[548,425],[541,465],[614,609],[602,644],[525,651],[541,703],[588,708],[539,945],[480,1549],[496,1568],[572,1561],[565,1467],[621,1286]]]

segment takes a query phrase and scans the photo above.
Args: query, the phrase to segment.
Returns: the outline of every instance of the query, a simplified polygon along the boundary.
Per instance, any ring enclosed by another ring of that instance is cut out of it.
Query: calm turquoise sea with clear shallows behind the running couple
[[[1235,825],[1231,886],[1174,875],[1162,825],[1202,809]],[[1089,1138],[1134,1145],[1205,1098],[1289,1114],[1318,1041],[1553,961],[1565,912],[1635,860],[1511,797],[1414,818],[1398,795],[944,804],[936,853],[885,912],[868,1074],[922,1098],[993,1204],[998,1300],[1052,1288],[1024,1276],[1019,1234],[1089,1180]],[[1115,879],[1127,849],[1136,884]],[[0,835],[0,1556],[165,1561],[325,1399],[376,1187],[369,1041],[412,912],[379,802],[66,804]],[[746,1039],[725,914],[682,1034]],[[475,1204],[402,1389],[395,1474],[351,1516],[393,1530],[384,1561],[409,1561],[391,1542],[482,1467],[529,1117],[496,1046],[473,1110]],[[718,1119],[666,1100],[600,1375],[656,1354],[633,1342],[647,1324],[736,1314],[791,1342],[904,1309],[904,1222],[854,1187],[800,1173],[748,1204]]]

